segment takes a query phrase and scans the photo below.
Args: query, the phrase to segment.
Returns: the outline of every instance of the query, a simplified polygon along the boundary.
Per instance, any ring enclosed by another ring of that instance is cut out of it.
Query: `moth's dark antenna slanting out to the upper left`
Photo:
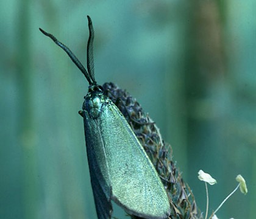
[[[90,26],[89,26],[90,29]],[[52,35],[51,33],[47,33],[44,30],[42,30],[41,28],[39,28],[39,30],[46,36],[49,36],[49,38],[51,38],[54,43],[56,43],[59,47],[61,47],[69,56],[69,58],[71,58],[71,60],[73,61],[73,63],[76,64],[76,66],[80,69],[80,71],[85,75],[85,77],[87,78],[89,85],[92,85],[93,83],[95,83],[94,77],[91,77],[91,74],[89,75],[88,72],[86,71],[86,69],[84,68],[84,66],[82,65],[82,63],[80,63],[80,61],[78,60],[78,58],[76,57],[76,55],[73,54],[73,52],[71,52],[70,49],[68,49],[67,46],[65,46],[63,43],[61,43],[59,40],[57,40],[55,38],[54,35]],[[89,38],[90,40],[90,38]],[[93,80],[93,82],[91,81]]]

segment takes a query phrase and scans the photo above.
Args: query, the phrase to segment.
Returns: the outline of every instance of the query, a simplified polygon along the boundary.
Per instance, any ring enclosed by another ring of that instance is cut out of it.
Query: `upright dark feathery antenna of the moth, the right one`
[[[87,15],[87,18],[88,18],[88,27],[90,32],[88,44],[87,44],[87,70],[91,80],[93,80],[93,83],[96,84],[96,80],[94,78],[94,61],[93,61],[94,30],[93,30],[93,23],[91,22],[90,16]]]

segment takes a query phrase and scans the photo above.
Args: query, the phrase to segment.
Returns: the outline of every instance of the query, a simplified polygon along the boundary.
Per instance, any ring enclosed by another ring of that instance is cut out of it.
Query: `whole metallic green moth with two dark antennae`
[[[105,95],[94,78],[91,18],[87,44],[87,70],[76,56],[53,35],[40,29],[69,55],[89,83],[79,114],[84,118],[85,142],[91,186],[99,219],[111,218],[112,203],[130,215],[164,219],[171,213],[169,198],[154,165],[123,114]]]

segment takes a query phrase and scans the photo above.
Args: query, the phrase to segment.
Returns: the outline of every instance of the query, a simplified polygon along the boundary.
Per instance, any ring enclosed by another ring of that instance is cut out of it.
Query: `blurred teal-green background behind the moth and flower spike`
[[[38,27],[86,60],[90,15],[99,84],[135,97],[173,148],[205,212],[255,218],[256,2],[10,0],[0,6],[0,218],[96,218],[82,107],[88,83]],[[121,209],[115,215],[125,218]]]

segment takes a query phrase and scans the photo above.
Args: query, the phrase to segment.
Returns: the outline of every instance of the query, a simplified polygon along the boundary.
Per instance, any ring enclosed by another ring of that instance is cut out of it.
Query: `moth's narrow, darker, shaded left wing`
[[[98,218],[107,219],[112,214],[109,168],[97,120],[88,118],[84,111],[85,142],[94,203]]]

